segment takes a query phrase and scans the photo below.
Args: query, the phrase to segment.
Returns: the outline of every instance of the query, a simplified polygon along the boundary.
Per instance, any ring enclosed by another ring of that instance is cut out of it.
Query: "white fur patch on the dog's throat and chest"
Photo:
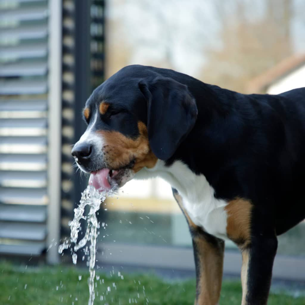
[[[181,161],[165,167],[161,160],[155,167],[143,168],[135,175],[136,179],[152,177],[161,177],[177,189],[188,216],[196,225],[219,238],[227,237],[227,214],[224,210],[227,203],[214,197],[214,189],[204,175],[194,174]]]

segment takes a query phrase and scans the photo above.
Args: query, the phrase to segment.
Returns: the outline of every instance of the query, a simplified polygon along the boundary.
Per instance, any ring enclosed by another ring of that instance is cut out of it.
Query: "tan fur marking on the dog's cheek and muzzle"
[[[105,142],[105,161],[109,166],[119,168],[135,158],[133,170],[137,172],[145,166],[151,168],[156,164],[157,157],[149,147],[145,124],[138,122],[138,128],[140,135],[135,140],[118,131],[98,131]]]

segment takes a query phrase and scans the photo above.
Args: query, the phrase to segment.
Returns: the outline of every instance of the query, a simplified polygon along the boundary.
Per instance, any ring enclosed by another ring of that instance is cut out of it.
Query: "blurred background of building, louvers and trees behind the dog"
[[[0,0],[0,255],[50,264],[88,177],[72,145],[91,91],[123,66],[174,69],[242,93],[305,86],[303,0]],[[288,203],[289,204],[289,203]],[[186,221],[160,179],[99,212],[99,264],[194,272]],[[274,277],[305,280],[305,225],[279,237]],[[239,274],[226,243],[224,272]]]

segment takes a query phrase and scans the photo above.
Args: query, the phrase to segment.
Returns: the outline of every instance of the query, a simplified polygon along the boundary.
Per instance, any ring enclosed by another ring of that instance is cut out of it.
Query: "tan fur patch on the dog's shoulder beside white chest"
[[[237,198],[228,202],[224,207],[227,213],[227,236],[240,248],[246,248],[251,237],[251,211],[250,201]]]

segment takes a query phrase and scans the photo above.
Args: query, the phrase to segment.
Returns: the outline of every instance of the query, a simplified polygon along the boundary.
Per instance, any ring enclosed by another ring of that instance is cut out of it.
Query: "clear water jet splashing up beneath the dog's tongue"
[[[94,277],[95,277],[95,254],[96,254],[96,237],[97,229],[99,228],[99,222],[96,218],[96,212],[100,208],[100,204],[106,199],[106,195],[113,196],[113,190],[108,192],[98,192],[92,185],[88,185],[84,192],[81,193],[80,204],[76,209],[74,209],[74,218],[69,221],[69,226],[71,228],[70,242],[74,243],[74,248],[72,251],[73,264],[77,263],[77,250],[83,248],[88,240],[90,239],[90,258],[89,258],[89,273],[88,286],[89,286],[89,301],[88,305],[93,305],[95,299],[94,292]],[[85,207],[90,207],[88,215],[85,216]],[[77,243],[78,233],[81,230],[80,220],[84,219],[87,221],[87,228],[84,237]],[[69,240],[63,242],[59,245],[58,252],[63,253],[64,249],[71,247]],[[87,247],[86,247],[87,248]],[[85,249],[88,252],[88,249]]]

